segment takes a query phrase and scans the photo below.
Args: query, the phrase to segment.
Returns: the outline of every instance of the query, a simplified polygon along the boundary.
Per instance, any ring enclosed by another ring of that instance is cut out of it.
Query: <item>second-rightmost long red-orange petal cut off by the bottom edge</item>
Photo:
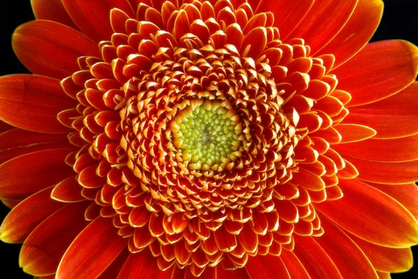
[[[311,279],[343,279],[334,262],[312,237],[295,235],[295,250]]]

